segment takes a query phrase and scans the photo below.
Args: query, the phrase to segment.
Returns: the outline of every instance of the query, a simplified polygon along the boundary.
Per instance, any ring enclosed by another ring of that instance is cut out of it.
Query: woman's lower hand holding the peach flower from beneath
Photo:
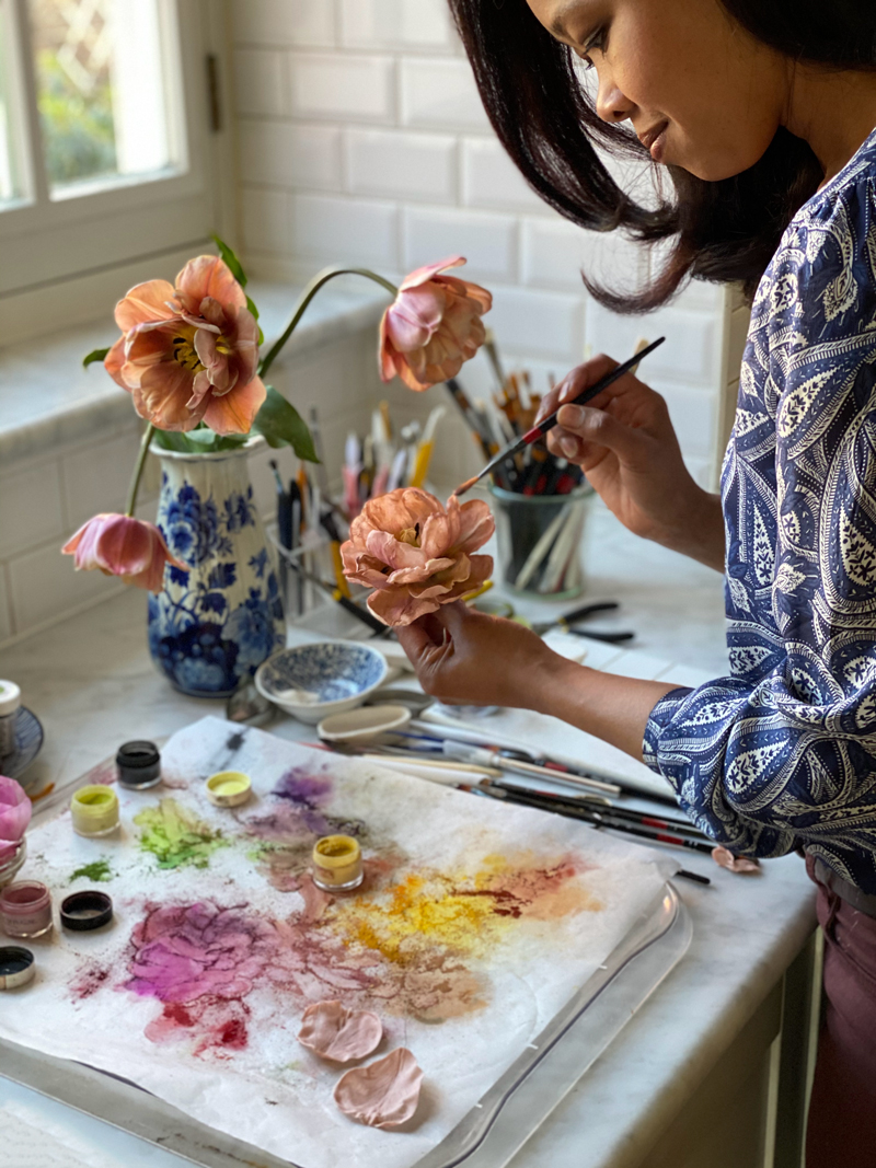
[[[461,600],[396,628],[426,694],[456,705],[535,709],[551,667],[566,663],[529,628]]]

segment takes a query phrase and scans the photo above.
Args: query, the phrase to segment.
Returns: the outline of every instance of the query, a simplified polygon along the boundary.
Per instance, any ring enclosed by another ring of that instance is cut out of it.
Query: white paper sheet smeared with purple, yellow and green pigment
[[[204,779],[229,767],[253,795],[222,809]],[[97,883],[116,918],[33,943],[39,976],[0,1013],[0,1037],[110,1071],[304,1168],[416,1164],[676,867],[573,820],[213,717],[167,743],[162,774],[151,791],[119,788],[116,837],[75,835],[69,812],[30,830],[23,875],[56,903]],[[313,843],[332,834],[360,843],[355,892],[311,880]],[[371,1058],[416,1057],[423,1090],[402,1128],[343,1115],[346,1068],[297,1041],[326,1000],[378,1015]]]

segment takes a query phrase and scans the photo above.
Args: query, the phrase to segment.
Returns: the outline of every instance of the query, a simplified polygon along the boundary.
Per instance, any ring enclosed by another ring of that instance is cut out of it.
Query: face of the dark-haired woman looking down
[[[726,179],[753,166],[783,123],[783,58],[718,0],[527,2],[596,69],[599,117],[631,121],[656,162]]]

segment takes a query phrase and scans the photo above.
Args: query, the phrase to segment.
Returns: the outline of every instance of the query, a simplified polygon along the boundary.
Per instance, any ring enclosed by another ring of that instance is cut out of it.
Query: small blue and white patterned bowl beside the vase
[[[317,641],[280,649],[256,672],[256,689],[299,722],[352,710],[387,677],[387,659],[370,645]]]

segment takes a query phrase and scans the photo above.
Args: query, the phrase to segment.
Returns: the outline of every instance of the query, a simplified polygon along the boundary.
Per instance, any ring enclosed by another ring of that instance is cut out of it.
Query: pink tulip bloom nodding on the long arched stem
[[[383,381],[398,374],[409,389],[422,392],[456,377],[481,347],[486,334],[480,318],[489,312],[493,297],[477,284],[438,274],[464,263],[461,256],[451,256],[402,281],[381,321]]]

